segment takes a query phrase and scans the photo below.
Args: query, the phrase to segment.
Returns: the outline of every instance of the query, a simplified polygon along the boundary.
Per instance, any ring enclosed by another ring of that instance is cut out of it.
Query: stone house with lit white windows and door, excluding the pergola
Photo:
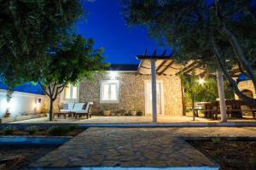
[[[93,102],[92,113],[101,115],[102,110],[143,111],[152,113],[150,75],[138,72],[139,65],[111,65],[108,71],[96,73],[95,81],[84,80],[77,87],[72,85],[63,90],[55,101],[56,111],[59,102]],[[157,113],[165,116],[183,116],[183,86],[175,75],[157,76]],[[45,99],[47,108],[48,99]]]

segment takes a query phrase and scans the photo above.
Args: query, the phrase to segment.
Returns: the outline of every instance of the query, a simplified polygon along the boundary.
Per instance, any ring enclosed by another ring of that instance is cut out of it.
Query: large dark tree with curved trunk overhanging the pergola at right
[[[256,4],[253,0],[130,0],[123,1],[129,26],[146,26],[150,36],[172,47],[178,62],[200,59],[208,68],[220,68],[230,88],[237,88],[230,72],[235,66],[256,87]],[[253,71],[254,70],[254,71]]]

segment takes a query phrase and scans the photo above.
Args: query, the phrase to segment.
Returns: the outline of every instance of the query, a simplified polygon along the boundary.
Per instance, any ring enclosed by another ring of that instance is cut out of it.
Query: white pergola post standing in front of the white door
[[[157,122],[157,111],[156,111],[156,71],[155,71],[155,60],[150,59],[151,63],[151,85],[152,85],[152,119],[153,122]]]

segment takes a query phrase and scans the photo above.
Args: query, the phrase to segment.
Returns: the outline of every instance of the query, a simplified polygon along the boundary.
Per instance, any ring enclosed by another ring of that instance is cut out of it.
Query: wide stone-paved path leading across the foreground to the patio
[[[216,167],[173,132],[175,128],[92,127],[31,166]]]

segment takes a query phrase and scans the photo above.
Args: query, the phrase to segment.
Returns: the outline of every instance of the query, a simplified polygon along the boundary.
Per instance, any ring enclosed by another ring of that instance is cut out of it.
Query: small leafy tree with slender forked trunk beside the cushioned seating
[[[55,48],[50,48],[44,65],[38,71],[39,82],[49,96],[49,120],[53,116],[53,102],[68,84],[76,85],[83,78],[92,80],[93,73],[103,71],[102,48],[94,49],[93,40],[73,35],[63,39]]]

